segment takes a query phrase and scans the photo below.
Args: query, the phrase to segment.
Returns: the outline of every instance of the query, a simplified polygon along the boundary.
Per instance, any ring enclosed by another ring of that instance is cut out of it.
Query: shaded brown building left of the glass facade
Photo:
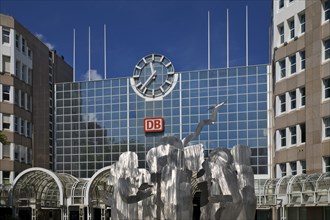
[[[13,17],[0,14],[0,184],[30,167],[53,169],[54,84],[72,68]]]

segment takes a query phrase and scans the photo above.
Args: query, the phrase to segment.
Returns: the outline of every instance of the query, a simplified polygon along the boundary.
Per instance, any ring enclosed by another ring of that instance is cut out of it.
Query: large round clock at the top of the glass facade
[[[172,62],[160,54],[143,57],[134,67],[131,85],[145,99],[161,99],[174,88],[178,75]]]

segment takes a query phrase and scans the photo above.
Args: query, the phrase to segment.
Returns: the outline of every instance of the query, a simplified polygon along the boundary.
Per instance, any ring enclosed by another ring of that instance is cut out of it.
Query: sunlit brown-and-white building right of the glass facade
[[[327,219],[329,198],[322,192],[329,196],[330,1],[273,1],[271,50],[272,177],[288,186],[276,192],[283,209],[273,218]],[[314,199],[304,192],[309,182],[319,195]],[[298,183],[301,190],[293,188]],[[290,190],[303,199],[290,201]]]

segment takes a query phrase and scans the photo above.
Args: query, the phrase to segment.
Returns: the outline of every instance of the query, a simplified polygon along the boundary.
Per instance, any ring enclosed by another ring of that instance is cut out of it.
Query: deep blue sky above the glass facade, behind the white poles
[[[245,65],[245,7],[249,9],[249,64],[269,63],[271,0],[17,1],[2,0],[11,15],[73,64],[76,80],[91,69],[104,75],[103,28],[107,28],[107,78],[131,76],[145,55],[167,56],[177,72],[207,69],[207,14],[211,15],[211,68],[226,67],[226,17],[229,9],[230,66]]]

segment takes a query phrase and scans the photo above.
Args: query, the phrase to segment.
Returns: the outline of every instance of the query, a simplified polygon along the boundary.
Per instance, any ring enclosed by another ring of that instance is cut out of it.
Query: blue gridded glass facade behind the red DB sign
[[[227,100],[214,125],[198,139],[207,156],[217,147],[251,147],[255,174],[268,174],[267,65],[182,72],[172,92],[146,101],[129,78],[58,83],[56,90],[56,172],[91,177],[127,150],[146,167],[145,155],[163,136],[180,139],[210,118],[210,106]],[[145,133],[144,118],[163,117],[165,131]]]

